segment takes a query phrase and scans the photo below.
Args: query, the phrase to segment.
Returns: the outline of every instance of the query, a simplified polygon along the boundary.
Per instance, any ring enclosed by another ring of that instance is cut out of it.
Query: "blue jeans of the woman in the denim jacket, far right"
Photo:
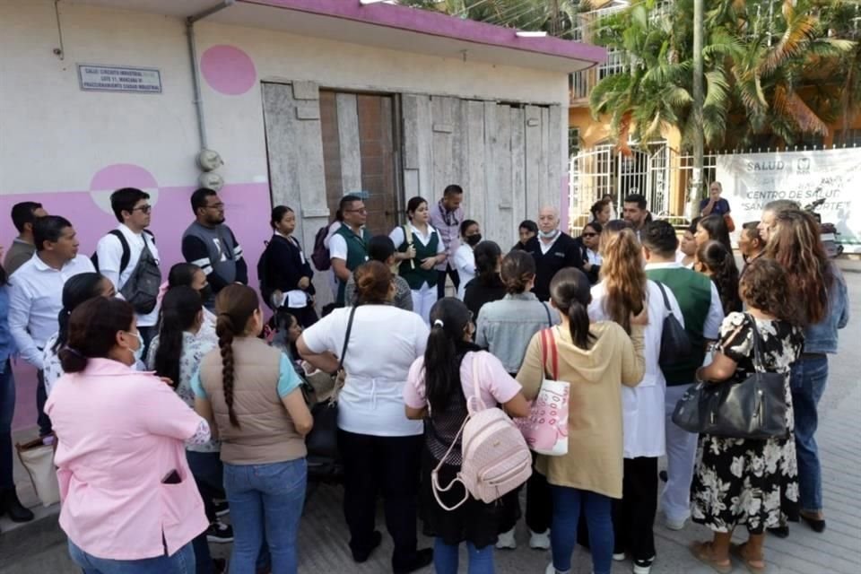
[[[799,506],[805,512],[822,510],[822,467],[816,446],[819,416],[816,407],[828,382],[828,356],[802,357],[792,366],[789,387],[796,413]]]

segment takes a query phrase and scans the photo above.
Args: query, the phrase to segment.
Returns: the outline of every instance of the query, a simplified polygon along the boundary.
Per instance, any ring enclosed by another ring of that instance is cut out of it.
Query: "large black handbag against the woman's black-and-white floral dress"
[[[730,439],[769,439],[787,434],[786,379],[761,372],[761,335],[752,322],[754,372],[742,381],[699,382],[679,399],[673,422],[685,431]]]

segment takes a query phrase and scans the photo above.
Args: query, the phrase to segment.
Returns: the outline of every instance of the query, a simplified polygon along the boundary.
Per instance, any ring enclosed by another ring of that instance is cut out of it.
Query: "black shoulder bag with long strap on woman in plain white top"
[[[344,335],[344,348],[338,359],[335,391],[328,400],[311,407],[314,427],[305,437],[305,447],[308,449],[306,461],[311,480],[336,481],[344,474],[344,466],[341,464],[341,455],[338,452],[338,393],[344,387],[344,356],[350,343],[352,318],[355,313],[356,308],[352,307],[347,321],[347,332]]]

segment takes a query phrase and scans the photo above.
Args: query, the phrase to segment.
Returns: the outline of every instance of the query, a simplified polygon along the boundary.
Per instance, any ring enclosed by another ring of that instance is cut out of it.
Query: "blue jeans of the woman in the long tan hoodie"
[[[577,544],[577,524],[580,509],[586,515],[592,570],[595,574],[610,574],[613,567],[612,499],[591,491],[551,484],[553,522],[550,544],[553,568],[559,572],[571,570],[571,554]]]

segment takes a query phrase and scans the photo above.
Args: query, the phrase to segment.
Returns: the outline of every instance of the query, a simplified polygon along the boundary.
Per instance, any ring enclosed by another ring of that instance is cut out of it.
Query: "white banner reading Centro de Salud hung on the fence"
[[[735,221],[759,221],[762,206],[791,199],[802,207],[825,198],[816,211],[834,223],[848,253],[861,253],[861,149],[737,153],[718,156],[718,181]]]

